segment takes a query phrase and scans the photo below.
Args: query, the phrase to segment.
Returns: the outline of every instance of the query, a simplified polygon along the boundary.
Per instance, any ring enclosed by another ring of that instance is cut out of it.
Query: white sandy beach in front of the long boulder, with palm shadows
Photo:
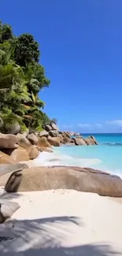
[[[0,227],[1,256],[122,255],[122,205],[78,191],[4,195],[20,204]]]

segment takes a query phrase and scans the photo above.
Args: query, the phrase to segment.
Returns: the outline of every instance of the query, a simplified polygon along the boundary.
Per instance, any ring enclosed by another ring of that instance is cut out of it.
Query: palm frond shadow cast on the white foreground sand
[[[72,239],[70,224],[83,227],[79,217],[46,217],[34,220],[7,221],[13,239],[0,243],[1,256],[110,256],[122,255],[109,244],[86,244],[64,247],[66,237]],[[9,228],[8,228],[9,227]]]

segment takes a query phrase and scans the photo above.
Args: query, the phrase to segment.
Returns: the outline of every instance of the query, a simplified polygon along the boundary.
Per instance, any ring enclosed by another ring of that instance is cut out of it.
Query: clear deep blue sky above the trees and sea
[[[122,132],[122,0],[4,0],[0,19],[39,42],[61,129]]]

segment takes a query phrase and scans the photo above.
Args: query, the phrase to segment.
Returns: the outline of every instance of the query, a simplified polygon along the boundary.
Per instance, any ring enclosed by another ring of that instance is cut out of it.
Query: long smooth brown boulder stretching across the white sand
[[[122,180],[118,176],[70,166],[31,167],[22,172],[3,175],[0,185],[7,192],[74,189],[112,197],[122,197]]]

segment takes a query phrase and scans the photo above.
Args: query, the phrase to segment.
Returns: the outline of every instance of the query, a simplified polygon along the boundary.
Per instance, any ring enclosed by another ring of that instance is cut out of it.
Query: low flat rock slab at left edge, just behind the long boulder
[[[6,174],[6,173],[12,173],[12,172],[17,172],[22,169],[28,168],[28,165],[26,164],[13,164],[13,165],[0,165],[0,176]]]

